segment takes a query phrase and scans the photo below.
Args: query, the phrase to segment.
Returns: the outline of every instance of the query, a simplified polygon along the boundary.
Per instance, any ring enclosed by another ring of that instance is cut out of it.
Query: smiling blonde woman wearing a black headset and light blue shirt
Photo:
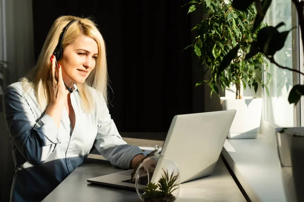
[[[37,65],[4,91],[15,162],[11,201],[41,201],[83,163],[93,145],[124,169],[145,157],[120,136],[106,87],[105,44],[94,22],[56,19]]]

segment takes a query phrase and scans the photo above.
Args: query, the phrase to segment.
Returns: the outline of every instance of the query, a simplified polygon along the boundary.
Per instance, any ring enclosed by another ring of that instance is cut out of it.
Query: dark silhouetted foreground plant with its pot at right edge
[[[296,8],[299,29],[301,32],[302,48],[304,49],[304,1],[303,0],[291,0]],[[210,2],[209,2],[210,3]],[[291,31],[286,30],[279,32],[278,28],[285,23],[281,22],[275,26],[265,26],[258,30],[261,22],[264,19],[272,1],[271,0],[234,0],[233,8],[240,11],[248,11],[252,6],[257,8],[257,16],[254,19],[253,28],[251,33],[257,33],[257,37],[252,41],[249,53],[245,56],[244,60],[249,60],[255,57],[257,54],[262,54],[264,58],[267,58],[271,63],[275,64],[278,68],[296,72],[304,75],[302,72],[296,69],[285,67],[277,63],[274,59],[274,55],[283,48],[287,35]],[[192,1],[192,4],[198,4],[196,1]],[[238,57],[238,52],[241,44],[236,44],[231,50],[223,57],[221,64],[217,70],[217,75],[222,75],[222,72],[229,71],[231,69],[231,63]],[[297,105],[301,96],[304,94],[304,85],[296,84],[292,86],[292,89],[288,95],[288,102],[290,104]],[[279,110],[279,109],[277,109]],[[277,128],[277,143],[278,153],[281,161],[281,165],[284,168],[291,166],[292,168],[292,183],[294,185],[295,198],[297,201],[304,201],[304,193],[302,187],[304,186],[304,163],[302,161],[304,155],[304,127],[292,127],[292,128]],[[282,169],[283,170],[283,169]],[[283,179],[284,181],[284,179]]]

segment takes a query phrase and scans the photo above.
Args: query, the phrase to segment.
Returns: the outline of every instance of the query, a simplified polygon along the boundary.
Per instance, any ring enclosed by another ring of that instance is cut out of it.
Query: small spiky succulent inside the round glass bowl
[[[164,169],[163,169],[164,171]],[[175,200],[175,196],[172,192],[178,189],[177,180],[179,178],[179,174],[173,175],[174,172],[169,175],[164,171],[164,174],[159,179],[158,184],[149,182],[146,187],[143,188],[145,191],[142,195],[145,202],[171,202]]]

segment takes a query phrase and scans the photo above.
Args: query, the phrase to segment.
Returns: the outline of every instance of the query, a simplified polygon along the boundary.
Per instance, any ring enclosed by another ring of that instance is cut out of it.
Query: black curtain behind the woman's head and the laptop
[[[93,17],[107,46],[109,110],[119,131],[166,132],[174,115],[194,112],[186,3],[33,0],[35,58],[58,16]]]

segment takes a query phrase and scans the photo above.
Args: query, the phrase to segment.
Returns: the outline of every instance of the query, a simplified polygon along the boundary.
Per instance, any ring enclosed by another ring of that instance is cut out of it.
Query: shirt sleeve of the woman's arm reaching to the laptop
[[[99,103],[98,128],[94,142],[99,153],[114,167],[130,169],[133,157],[143,154],[138,146],[127,144],[118,132],[118,129],[111,119],[108,108],[103,98]]]

